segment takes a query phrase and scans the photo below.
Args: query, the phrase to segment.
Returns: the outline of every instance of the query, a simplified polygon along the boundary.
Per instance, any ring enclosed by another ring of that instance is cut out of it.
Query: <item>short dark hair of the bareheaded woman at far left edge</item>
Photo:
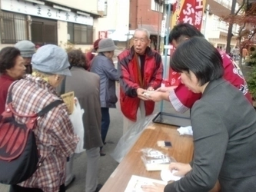
[[[16,58],[21,55],[18,48],[5,47],[0,51],[0,73],[4,74],[7,69],[15,66]]]

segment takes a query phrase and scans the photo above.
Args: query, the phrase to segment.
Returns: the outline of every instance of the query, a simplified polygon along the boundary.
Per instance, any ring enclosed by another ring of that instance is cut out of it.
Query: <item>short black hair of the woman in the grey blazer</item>
[[[200,37],[182,42],[172,55],[170,65],[176,72],[192,71],[200,85],[221,78],[224,74],[218,50]]]

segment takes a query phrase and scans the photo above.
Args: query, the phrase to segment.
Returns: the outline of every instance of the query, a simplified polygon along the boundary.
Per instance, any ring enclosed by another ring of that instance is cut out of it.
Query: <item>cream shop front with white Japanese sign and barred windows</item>
[[[1,0],[0,48],[30,40],[81,50],[95,39],[95,20],[101,17],[97,1]]]

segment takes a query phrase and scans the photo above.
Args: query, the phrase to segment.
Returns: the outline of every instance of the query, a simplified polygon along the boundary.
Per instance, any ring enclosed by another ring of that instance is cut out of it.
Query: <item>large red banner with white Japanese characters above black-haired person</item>
[[[185,0],[179,14],[178,23],[189,23],[201,30],[204,15],[204,0]]]

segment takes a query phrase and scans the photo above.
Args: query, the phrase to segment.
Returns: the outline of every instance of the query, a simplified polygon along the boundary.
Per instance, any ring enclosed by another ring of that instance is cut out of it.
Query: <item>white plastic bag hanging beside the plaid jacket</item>
[[[84,124],[82,121],[82,116],[84,114],[84,109],[81,109],[79,101],[77,98],[75,98],[75,104],[74,104],[74,111],[72,114],[69,115],[70,121],[73,124],[74,132],[79,137],[78,145],[76,146],[75,153],[80,154],[81,152],[85,151],[84,149]]]

